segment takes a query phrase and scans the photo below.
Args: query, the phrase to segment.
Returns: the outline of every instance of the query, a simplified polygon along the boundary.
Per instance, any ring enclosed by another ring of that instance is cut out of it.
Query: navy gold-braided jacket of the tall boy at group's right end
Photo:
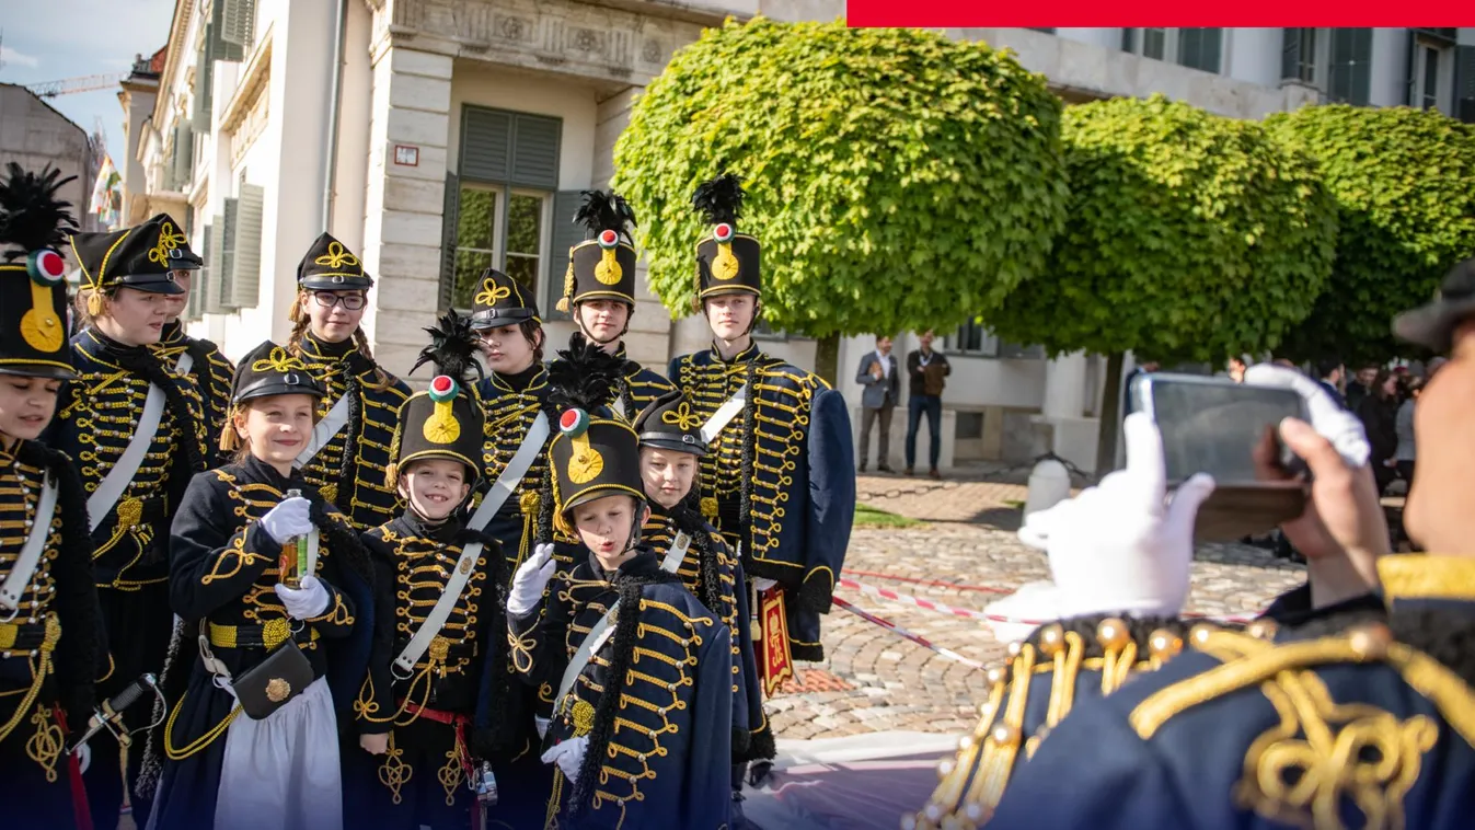
[[[704,423],[746,385],[746,405],[702,458],[702,513],[740,545],[748,578],[783,585],[794,658],[823,659],[819,615],[829,612],[856,515],[844,398],[755,345],[730,361],[714,349],[678,357],[668,374]]]

